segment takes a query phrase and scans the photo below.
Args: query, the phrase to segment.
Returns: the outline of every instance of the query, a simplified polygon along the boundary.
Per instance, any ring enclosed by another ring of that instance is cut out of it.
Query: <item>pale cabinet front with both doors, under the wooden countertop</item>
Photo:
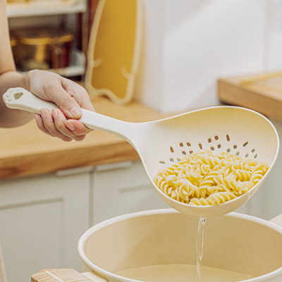
[[[80,236],[120,214],[168,207],[140,162],[0,181],[0,242],[8,282],[40,269],[82,271]]]

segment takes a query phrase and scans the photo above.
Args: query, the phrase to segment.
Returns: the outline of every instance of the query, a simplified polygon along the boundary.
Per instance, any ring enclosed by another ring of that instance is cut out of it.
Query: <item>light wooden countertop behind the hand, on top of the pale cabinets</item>
[[[136,102],[118,106],[105,97],[92,97],[92,103],[97,113],[123,121],[164,118],[164,114]],[[97,130],[81,142],[63,142],[42,133],[33,120],[18,128],[1,128],[0,135],[1,179],[139,159],[128,142]]]

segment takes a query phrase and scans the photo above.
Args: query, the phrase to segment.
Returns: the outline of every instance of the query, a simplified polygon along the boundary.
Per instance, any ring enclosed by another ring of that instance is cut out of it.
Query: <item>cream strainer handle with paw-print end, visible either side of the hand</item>
[[[10,88],[3,95],[3,99],[6,106],[10,109],[20,109],[35,114],[40,114],[39,111],[42,108],[47,108],[50,111],[52,109],[59,109],[56,104],[44,101],[22,87]],[[128,137],[126,137],[126,133],[129,130],[128,127],[130,127],[130,123],[128,122],[97,114],[86,109],[82,109],[80,121],[84,123],[87,128],[102,130],[128,140]]]

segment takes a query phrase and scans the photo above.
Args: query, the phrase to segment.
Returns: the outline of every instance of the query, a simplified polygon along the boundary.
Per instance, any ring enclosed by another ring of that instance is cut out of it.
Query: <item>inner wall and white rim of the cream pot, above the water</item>
[[[85,270],[101,277],[94,281],[136,282],[115,273],[154,264],[195,264],[197,224],[196,217],[174,209],[125,214],[86,231],[78,252]],[[207,219],[202,265],[248,274],[253,277],[248,282],[281,282],[282,228],[245,214]]]

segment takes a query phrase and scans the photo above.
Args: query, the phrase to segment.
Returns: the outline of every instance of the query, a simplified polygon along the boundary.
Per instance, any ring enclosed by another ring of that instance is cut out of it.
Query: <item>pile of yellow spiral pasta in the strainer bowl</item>
[[[266,163],[207,150],[192,153],[159,171],[154,182],[162,192],[179,202],[214,205],[245,194],[268,169]]]

